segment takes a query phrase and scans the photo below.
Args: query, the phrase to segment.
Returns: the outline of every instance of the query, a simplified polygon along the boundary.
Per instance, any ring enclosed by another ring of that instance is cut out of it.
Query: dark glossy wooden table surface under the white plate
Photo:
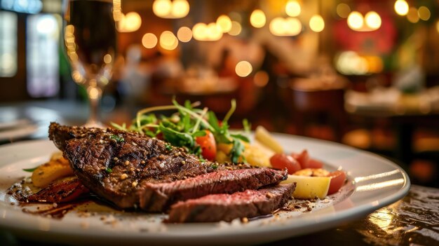
[[[439,189],[412,185],[405,198],[335,228],[266,245],[439,245]],[[2,245],[39,245],[1,233]],[[212,242],[215,244],[214,242]],[[44,245],[50,245],[45,243]],[[66,243],[67,245],[67,243]]]

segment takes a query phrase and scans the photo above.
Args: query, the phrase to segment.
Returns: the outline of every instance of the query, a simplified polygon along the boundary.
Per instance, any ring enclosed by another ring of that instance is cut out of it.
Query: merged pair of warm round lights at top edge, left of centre
[[[155,0],[152,4],[152,12],[160,18],[184,18],[189,10],[190,6],[187,0]]]

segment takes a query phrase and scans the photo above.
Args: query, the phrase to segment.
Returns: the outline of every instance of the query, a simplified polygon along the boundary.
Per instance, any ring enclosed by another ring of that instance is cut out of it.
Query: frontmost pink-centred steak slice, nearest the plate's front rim
[[[278,184],[259,190],[213,194],[175,203],[170,223],[231,221],[236,218],[270,214],[285,205],[296,184]]]

